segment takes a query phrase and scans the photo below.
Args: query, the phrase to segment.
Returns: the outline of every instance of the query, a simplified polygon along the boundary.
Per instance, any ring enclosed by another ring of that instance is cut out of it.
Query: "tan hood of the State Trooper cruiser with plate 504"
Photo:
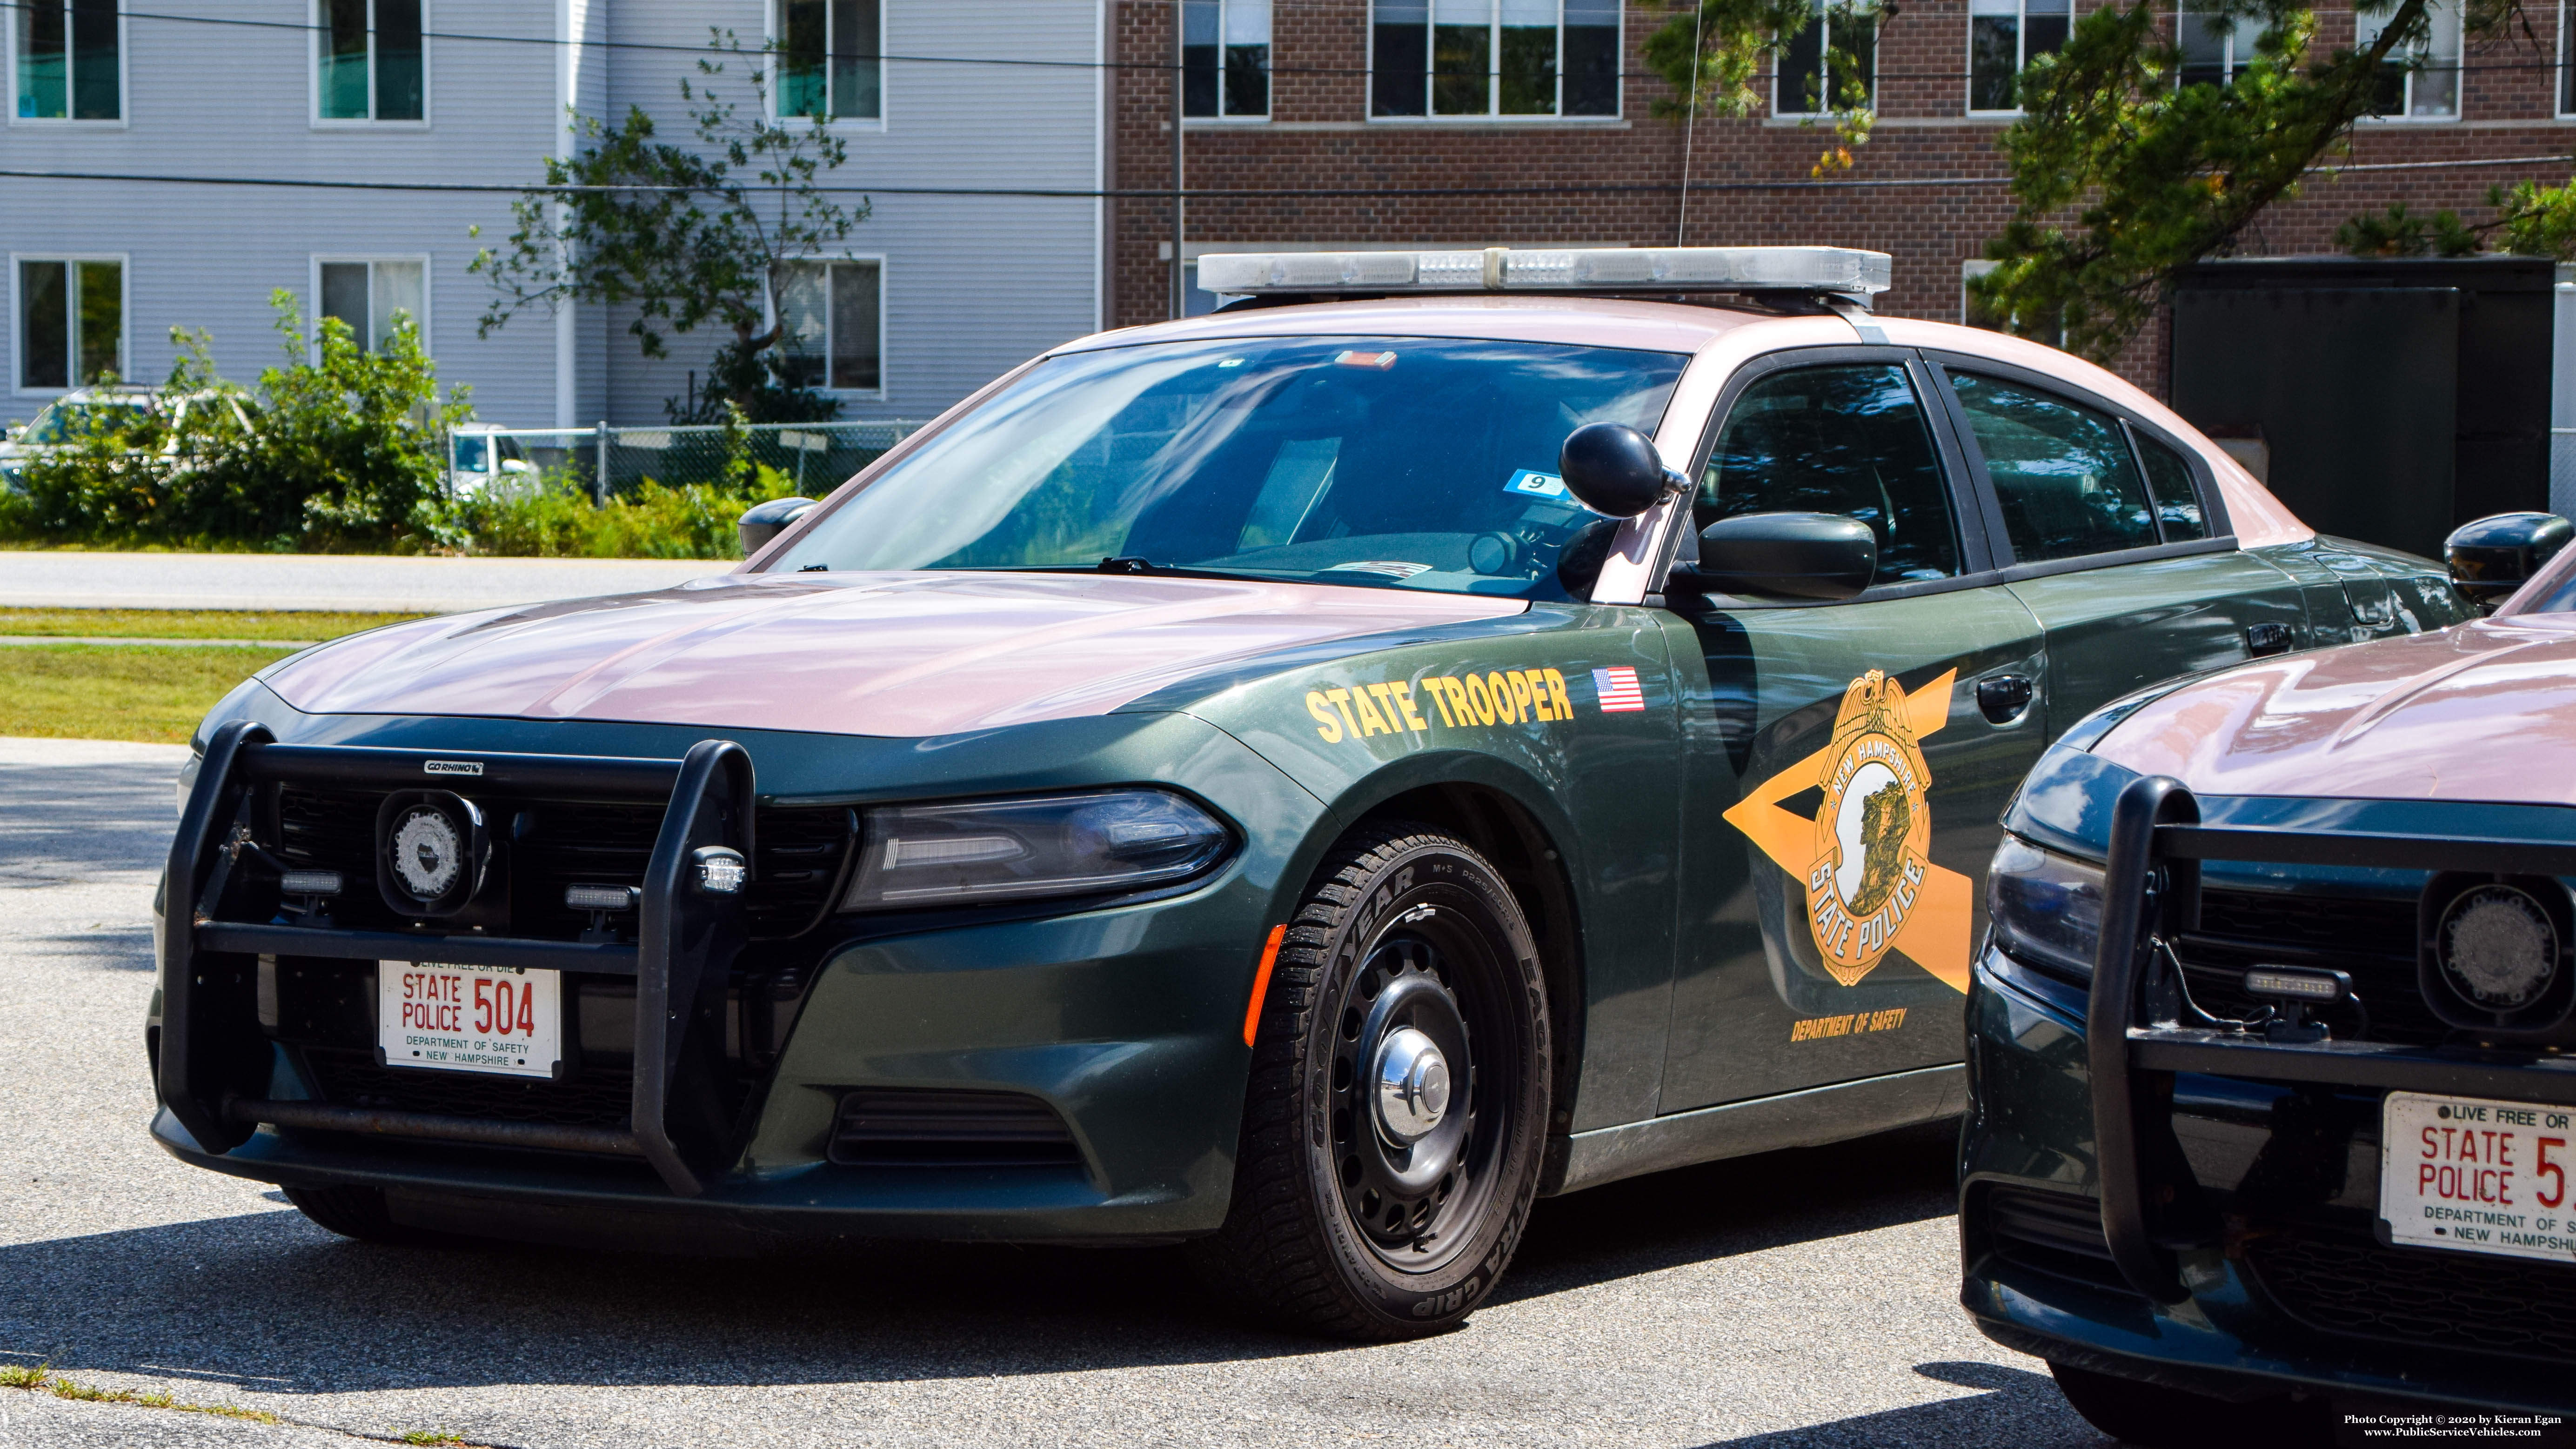
[[[1105,574],[724,574],[402,623],[263,679],[307,713],[933,736],[1097,715],[1218,664],[1520,600]]]

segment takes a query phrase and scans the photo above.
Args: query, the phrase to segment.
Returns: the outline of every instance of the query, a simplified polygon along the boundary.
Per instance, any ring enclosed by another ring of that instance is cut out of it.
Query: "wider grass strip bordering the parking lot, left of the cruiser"
[[[0,734],[188,744],[227,690],[294,649],[15,643],[0,649]]]

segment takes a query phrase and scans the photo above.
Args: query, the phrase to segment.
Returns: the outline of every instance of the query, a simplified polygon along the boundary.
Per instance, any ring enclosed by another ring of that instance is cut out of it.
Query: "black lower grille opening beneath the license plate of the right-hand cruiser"
[[[2272,1235],[2246,1253],[2308,1328],[2576,1364],[2576,1266]]]

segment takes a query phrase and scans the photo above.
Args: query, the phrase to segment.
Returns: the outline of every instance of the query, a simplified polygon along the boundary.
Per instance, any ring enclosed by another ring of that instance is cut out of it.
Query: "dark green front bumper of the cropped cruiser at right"
[[[2182,1302],[2130,1287],[2107,1246],[2053,1251],[2014,1230],[2014,1210],[2030,1202],[2063,1204],[2066,1225],[2099,1223],[2084,1019],[2081,991],[1991,947],[1978,960],[1968,988],[1960,1305],[1989,1338],[2228,1400],[2306,1390],[2576,1416],[2566,1359],[2324,1331],[2267,1282],[2267,1233],[2367,1235],[2378,1089],[2174,1073],[2174,1145],[2221,1215],[2215,1241],[2172,1251]]]

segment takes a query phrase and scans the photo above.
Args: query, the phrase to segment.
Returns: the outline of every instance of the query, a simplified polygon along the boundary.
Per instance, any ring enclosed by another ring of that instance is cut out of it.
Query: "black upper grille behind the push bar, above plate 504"
[[[348,878],[332,916],[353,929],[399,929],[376,893],[376,806],[381,793],[278,790],[278,854]],[[495,849],[507,860],[507,934],[577,939],[590,916],[564,906],[564,885],[641,885],[662,831],[662,806],[636,800],[479,798]],[[760,806],[752,816],[752,888],[744,914],[755,937],[793,937],[832,909],[858,818],[848,806]],[[484,885],[484,898],[500,898]],[[634,919],[621,921],[634,932]]]

